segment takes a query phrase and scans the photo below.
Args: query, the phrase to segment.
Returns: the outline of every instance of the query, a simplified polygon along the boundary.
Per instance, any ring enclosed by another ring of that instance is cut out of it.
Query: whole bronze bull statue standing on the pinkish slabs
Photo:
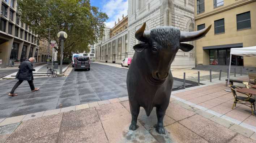
[[[136,130],[140,107],[149,116],[156,107],[159,134],[165,134],[163,118],[169,105],[173,77],[170,66],[178,50],[188,52],[193,45],[181,42],[202,38],[210,30],[211,25],[200,31],[181,32],[172,26],[163,26],[145,31],[146,23],[135,33],[141,41],[133,46],[136,51],[127,73],[127,90],[132,114],[130,130]],[[182,113],[181,113],[182,114]]]

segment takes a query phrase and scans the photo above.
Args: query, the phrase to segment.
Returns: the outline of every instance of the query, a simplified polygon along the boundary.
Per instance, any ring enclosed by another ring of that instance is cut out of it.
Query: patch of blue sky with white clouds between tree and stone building
[[[127,15],[128,0],[90,0],[91,5],[97,6],[102,12],[108,15],[106,26],[112,28],[121,20],[122,15]]]

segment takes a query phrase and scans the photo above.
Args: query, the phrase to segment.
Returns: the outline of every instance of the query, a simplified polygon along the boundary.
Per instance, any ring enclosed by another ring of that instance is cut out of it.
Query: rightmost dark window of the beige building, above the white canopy
[[[238,30],[251,28],[250,11],[236,15],[236,28]]]

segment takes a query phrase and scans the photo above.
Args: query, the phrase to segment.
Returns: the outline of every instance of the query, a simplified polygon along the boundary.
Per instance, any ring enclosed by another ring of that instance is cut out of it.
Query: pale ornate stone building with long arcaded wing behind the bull
[[[95,45],[96,60],[121,63],[125,57],[133,57],[133,46],[138,43],[135,31],[144,22],[146,30],[159,26],[174,26],[181,31],[194,31],[194,0],[128,0],[127,20],[127,29],[110,34],[110,39]],[[119,27],[118,24],[115,27]],[[194,68],[194,51],[179,50],[171,68]]]

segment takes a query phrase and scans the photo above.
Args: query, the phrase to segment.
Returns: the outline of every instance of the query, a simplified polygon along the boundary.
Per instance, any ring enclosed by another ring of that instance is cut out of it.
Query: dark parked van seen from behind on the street
[[[90,57],[78,56],[76,57],[74,70],[87,69],[90,70]]]

